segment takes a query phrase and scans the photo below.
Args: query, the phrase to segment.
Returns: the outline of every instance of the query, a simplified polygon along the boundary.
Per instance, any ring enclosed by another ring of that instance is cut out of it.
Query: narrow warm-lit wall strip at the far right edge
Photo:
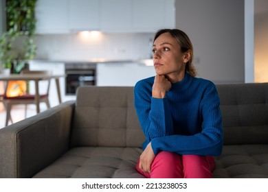
[[[255,0],[255,82],[268,82],[268,1]]]

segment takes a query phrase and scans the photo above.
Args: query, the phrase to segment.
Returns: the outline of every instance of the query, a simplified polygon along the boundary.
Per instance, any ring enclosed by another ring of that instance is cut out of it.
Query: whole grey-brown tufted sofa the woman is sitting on
[[[268,84],[216,85],[224,146],[214,178],[268,178]],[[78,88],[67,101],[0,130],[0,178],[143,178],[133,87]]]

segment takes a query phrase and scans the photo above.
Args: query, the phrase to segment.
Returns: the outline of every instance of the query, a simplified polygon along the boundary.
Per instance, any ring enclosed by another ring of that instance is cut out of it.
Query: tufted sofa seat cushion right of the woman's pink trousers
[[[268,178],[268,145],[224,145],[214,178]]]

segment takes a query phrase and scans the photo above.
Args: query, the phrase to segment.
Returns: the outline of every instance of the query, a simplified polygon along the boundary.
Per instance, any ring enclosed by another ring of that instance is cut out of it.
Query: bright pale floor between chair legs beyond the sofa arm
[[[27,107],[26,117],[32,117],[33,115],[36,115],[36,108],[34,105],[29,105]],[[0,129],[5,127],[5,117],[6,117],[5,109],[3,108],[3,106],[0,106]],[[12,117],[13,123],[16,123],[18,121],[25,119],[25,105],[13,106],[11,110],[11,117]],[[10,124],[11,122],[9,122],[9,125]]]

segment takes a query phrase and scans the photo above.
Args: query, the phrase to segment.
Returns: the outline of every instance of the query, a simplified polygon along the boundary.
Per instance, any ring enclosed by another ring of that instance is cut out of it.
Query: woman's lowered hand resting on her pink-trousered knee
[[[139,156],[139,169],[142,169],[145,173],[150,173],[150,167],[155,160],[155,154],[153,152],[152,145],[149,143],[141,156]]]

